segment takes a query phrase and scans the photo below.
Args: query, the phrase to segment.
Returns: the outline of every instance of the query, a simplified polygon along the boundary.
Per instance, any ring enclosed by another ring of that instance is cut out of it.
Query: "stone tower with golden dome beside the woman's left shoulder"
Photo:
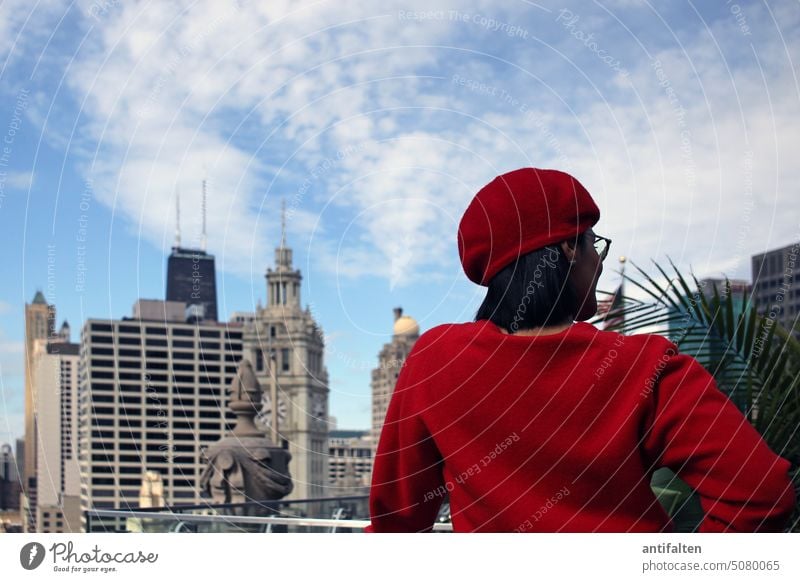
[[[401,307],[396,307],[392,339],[384,344],[378,354],[378,367],[372,370],[372,442],[375,447],[400,375],[400,368],[417,339],[419,339],[419,325],[413,317],[403,315]]]

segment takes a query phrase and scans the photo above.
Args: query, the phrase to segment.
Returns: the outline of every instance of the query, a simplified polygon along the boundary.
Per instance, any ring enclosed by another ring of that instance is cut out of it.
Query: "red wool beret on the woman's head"
[[[472,199],[458,227],[458,254],[471,281],[489,281],[518,257],[575,238],[600,219],[580,182],[558,170],[498,176]]]

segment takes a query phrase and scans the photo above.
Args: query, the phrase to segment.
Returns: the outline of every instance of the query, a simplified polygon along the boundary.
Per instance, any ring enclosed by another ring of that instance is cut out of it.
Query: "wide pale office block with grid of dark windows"
[[[89,319],[81,334],[84,511],[136,507],[147,472],[161,477],[165,503],[202,502],[203,450],[232,428],[226,392],[243,355],[241,326],[187,322],[180,302],[143,300],[134,313]],[[92,519],[93,531],[103,529],[124,524]]]

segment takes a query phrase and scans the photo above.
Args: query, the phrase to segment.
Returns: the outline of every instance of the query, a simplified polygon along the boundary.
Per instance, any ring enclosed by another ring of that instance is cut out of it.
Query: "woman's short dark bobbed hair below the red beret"
[[[584,234],[577,236],[576,245],[583,244]],[[475,320],[488,319],[510,333],[572,321],[578,299],[569,268],[560,245],[522,255],[489,281]]]

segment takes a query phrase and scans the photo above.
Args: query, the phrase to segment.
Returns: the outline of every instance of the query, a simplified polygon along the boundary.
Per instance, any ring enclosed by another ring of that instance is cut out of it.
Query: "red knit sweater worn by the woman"
[[[367,531],[429,531],[445,493],[457,532],[670,531],[664,466],[699,493],[701,531],[779,531],[794,505],[789,463],[663,337],[442,325],[398,378]]]

